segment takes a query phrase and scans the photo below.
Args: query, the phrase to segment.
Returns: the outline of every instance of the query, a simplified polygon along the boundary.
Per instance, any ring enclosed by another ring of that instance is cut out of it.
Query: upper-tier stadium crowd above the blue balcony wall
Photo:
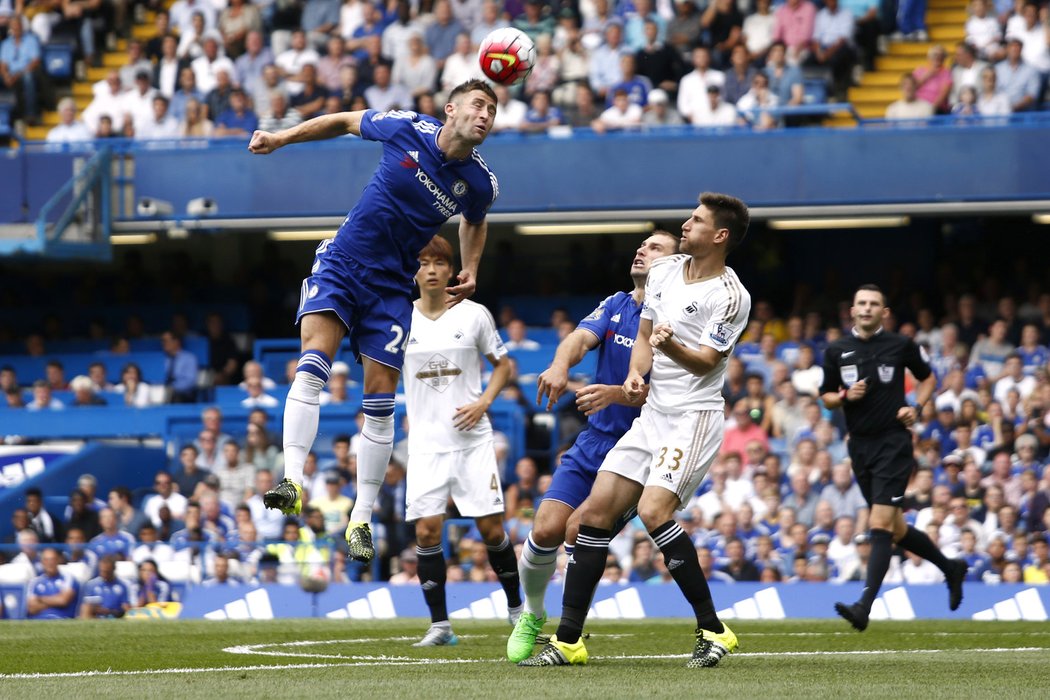
[[[132,3],[0,0],[0,92],[39,121],[49,91],[42,45],[74,42],[98,65],[107,37],[130,36]],[[155,33],[129,39],[125,64],[78,115],[58,104],[48,141],[250,135],[346,109],[440,116],[448,90],[479,77],[478,45],[514,26],[537,45],[520,88],[500,90],[498,131],[568,125],[598,131],[780,121],[806,84],[846,98],[885,38],[928,40],[925,0],[156,0]],[[1050,73],[1050,16],[1026,0],[974,0],[946,65],[902,81],[889,118],[1036,109]],[[1005,43],[1004,43],[1005,42]],[[989,73],[985,68],[993,68]],[[756,114],[758,116],[756,118]]]

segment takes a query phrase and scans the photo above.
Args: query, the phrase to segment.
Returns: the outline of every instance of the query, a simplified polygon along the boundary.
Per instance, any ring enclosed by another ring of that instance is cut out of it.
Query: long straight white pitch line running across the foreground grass
[[[921,650],[856,650],[846,652],[744,652],[734,654],[734,657],[768,657],[768,656],[879,656],[889,654],[951,654],[969,652],[976,654],[1005,654],[1011,652],[1050,652],[1045,646],[996,646],[992,649],[921,649]],[[642,660],[642,659],[681,659],[688,658],[689,654],[658,654],[658,655],[624,655],[624,656],[595,656],[595,660]],[[351,657],[343,657],[351,658]],[[418,666],[433,663],[505,663],[503,659],[412,659],[403,660],[404,657],[359,657],[361,661],[351,661],[346,663],[285,663],[278,665],[252,665],[252,666],[217,666],[211,669],[150,669],[145,671],[80,671],[76,673],[35,673],[35,674],[0,674],[0,680],[34,680],[48,678],[99,678],[104,676],[152,676],[155,674],[208,674],[208,673],[236,673],[245,671],[301,671],[313,669],[339,669],[354,666]],[[368,660],[364,660],[368,659]]]

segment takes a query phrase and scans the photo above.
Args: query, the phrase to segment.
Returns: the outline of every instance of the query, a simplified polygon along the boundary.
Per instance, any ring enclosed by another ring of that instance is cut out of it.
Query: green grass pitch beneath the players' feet
[[[426,627],[5,621],[0,697],[1045,698],[1050,687],[1050,625],[1037,622],[876,621],[859,634],[838,620],[736,621],[739,652],[698,670],[684,667],[693,645],[688,620],[589,623],[590,664],[561,669],[504,660],[506,623],[458,621],[458,646],[413,649]],[[233,646],[255,653],[224,651]],[[272,667],[299,665],[317,667]],[[85,673],[146,670],[177,671]],[[76,675],[47,676],[57,673]]]

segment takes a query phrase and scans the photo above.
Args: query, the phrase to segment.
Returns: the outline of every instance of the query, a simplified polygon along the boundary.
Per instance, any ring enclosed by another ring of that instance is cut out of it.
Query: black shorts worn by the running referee
[[[854,475],[868,505],[900,508],[916,468],[911,433],[894,430],[878,437],[849,436],[848,446]]]

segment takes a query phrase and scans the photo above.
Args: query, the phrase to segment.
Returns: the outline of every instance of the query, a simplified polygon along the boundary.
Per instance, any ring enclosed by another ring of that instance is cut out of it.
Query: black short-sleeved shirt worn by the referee
[[[881,328],[867,340],[850,334],[824,352],[824,382],[820,393],[833,394],[864,380],[867,382],[864,398],[843,403],[849,433],[875,437],[906,430],[897,420],[897,411],[906,405],[905,368],[919,381],[930,375],[922,351],[910,338]]]

